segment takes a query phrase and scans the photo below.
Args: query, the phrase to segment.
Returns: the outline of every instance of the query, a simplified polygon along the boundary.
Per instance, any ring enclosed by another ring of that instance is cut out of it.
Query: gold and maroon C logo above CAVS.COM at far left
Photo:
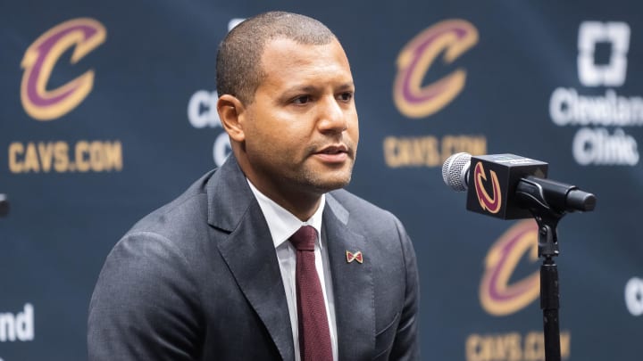
[[[94,70],[88,70],[55,89],[48,90],[47,82],[65,51],[74,47],[71,64],[75,64],[103,44],[106,34],[100,22],[79,18],[47,30],[29,46],[21,62],[24,69],[21,101],[29,116],[38,120],[57,119],[87,97],[94,86]]]

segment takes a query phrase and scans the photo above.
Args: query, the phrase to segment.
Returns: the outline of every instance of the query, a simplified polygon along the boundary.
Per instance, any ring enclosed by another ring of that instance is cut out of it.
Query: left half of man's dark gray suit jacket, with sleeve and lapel
[[[89,305],[89,359],[293,359],[269,237],[236,161],[207,173],[105,259]]]

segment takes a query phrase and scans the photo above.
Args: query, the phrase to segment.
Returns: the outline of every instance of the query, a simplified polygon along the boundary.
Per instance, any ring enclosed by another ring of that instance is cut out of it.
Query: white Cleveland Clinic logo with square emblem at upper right
[[[572,155],[581,166],[639,163],[637,140],[625,127],[643,126],[643,98],[618,94],[616,89],[625,84],[629,51],[628,23],[580,23],[576,64],[582,87],[555,88],[549,115],[556,126],[579,127]]]

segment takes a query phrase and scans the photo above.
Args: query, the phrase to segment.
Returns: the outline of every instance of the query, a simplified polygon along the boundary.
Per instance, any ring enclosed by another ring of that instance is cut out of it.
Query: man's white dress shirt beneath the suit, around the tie
[[[288,238],[301,226],[313,226],[317,230],[317,242],[315,242],[315,268],[317,268],[317,275],[319,275],[320,283],[322,284],[321,291],[323,291],[324,302],[326,303],[326,315],[329,319],[330,329],[330,344],[332,346],[333,359],[338,359],[338,340],[337,340],[337,324],[335,322],[335,303],[333,302],[332,279],[330,277],[330,263],[328,258],[328,250],[326,245],[321,240],[321,213],[326,205],[325,195],[321,195],[319,208],[305,222],[295,217],[288,210],[281,207],[275,201],[266,197],[263,193],[255,188],[249,179],[247,179],[250,189],[255,194],[256,200],[259,202],[259,207],[263,211],[263,217],[268,222],[270,228],[272,242],[274,242],[275,251],[277,252],[277,259],[280,264],[281,279],[284,283],[286,291],[286,299],[288,301],[288,312],[290,313],[290,327],[292,328],[293,343],[295,345],[295,359],[301,361],[299,355],[299,326],[297,323],[297,308],[296,308],[296,250],[295,247],[288,242]]]

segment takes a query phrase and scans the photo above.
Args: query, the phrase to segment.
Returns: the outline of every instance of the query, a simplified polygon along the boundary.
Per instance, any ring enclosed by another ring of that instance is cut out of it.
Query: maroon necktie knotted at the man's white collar
[[[330,361],[330,331],[326,303],[314,266],[314,242],[317,231],[302,226],[290,237],[296,248],[297,318],[299,320],[299,353],[302,361]]]

